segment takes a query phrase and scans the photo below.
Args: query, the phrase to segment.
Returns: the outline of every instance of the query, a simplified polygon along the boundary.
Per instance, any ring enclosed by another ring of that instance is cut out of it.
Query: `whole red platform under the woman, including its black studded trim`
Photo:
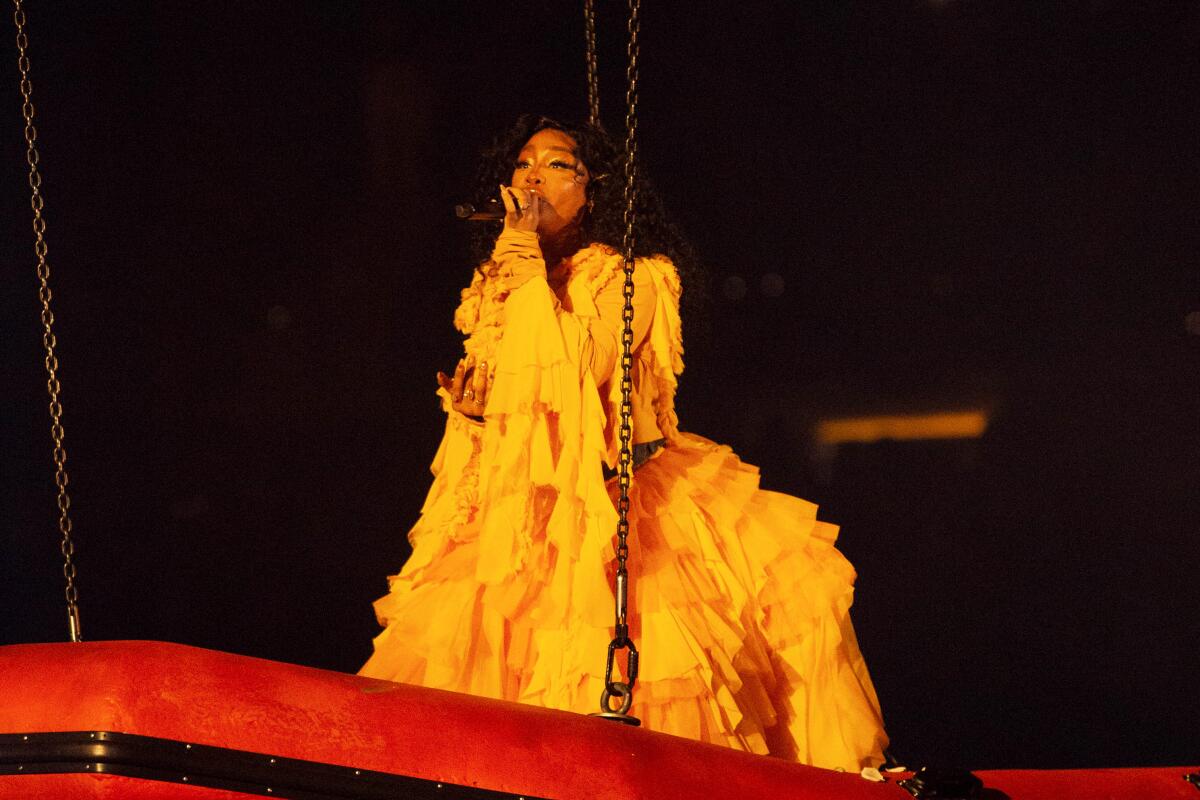
[[[158,642],[2,646],[0,692],[0,799],[911,796],[587,716]],[[47,735],[62,732],[78,733]],[[22,747],[42,756],[18,763]],[[985,798],[1200,800],[1189,771],[976,775]]]

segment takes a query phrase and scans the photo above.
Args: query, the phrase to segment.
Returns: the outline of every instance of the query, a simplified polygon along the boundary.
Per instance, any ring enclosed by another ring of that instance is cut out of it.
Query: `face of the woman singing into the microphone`
[[[521,148],[512,168],[512,186],[540,199],[538,233],[553,236],[583,217],[588,203],[588,168],[575,156],[575,139],[546,128]]]

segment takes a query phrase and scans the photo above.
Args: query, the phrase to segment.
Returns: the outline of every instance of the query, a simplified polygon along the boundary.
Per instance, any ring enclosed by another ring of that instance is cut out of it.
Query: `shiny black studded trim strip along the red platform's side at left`
[[[0,775],[68,772],[120,775],[292,800],[547,800],[131,733],[0,734]]]

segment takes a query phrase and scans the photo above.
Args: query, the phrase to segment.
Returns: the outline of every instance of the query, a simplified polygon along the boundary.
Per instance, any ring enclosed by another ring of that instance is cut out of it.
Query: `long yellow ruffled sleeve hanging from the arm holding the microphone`
[[[562,619],[572,607],[602,619],[611,613],[606,606],[578,608],[582,599],[605,594],[604,570],[590,567],[602,561],[616,527],[601,474],[604,409],[583,356],[592,320],[562,307],[535,239],[502,235],[493,261],[510,283],[490,365],[476,578],[505,615],[536,593],[539,608],[558,609]],[[563,569],[581,559],[589,569]],[[524,579],[511,581],[518,572]],[[560,621],[553,619],[559,613],[545,613],[545,625]]]

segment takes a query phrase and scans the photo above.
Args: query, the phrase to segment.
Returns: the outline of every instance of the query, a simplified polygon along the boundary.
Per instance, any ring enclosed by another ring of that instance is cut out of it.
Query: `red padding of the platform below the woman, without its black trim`
[[[0,733],[134,733],[560,800],[908,796],[582,715],[160,642],[4,646],[0,686]],[[0,777],[0,798],[36,796],[35,784],[54,781],[58,794],[43,796],[228,796],[12,776]]]

